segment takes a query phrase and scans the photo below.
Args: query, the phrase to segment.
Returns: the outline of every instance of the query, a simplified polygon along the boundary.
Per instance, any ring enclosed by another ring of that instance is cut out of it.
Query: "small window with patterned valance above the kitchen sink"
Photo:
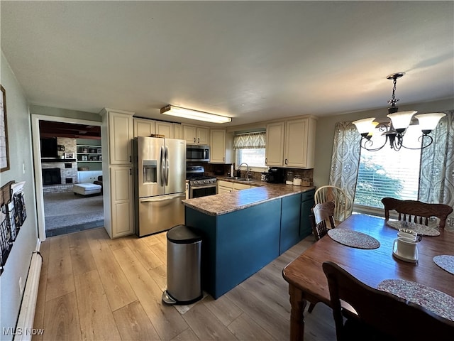
[[[249,167],[265,167],[265,131],[238,134],[233,139],[237,164],[245,162]]]

